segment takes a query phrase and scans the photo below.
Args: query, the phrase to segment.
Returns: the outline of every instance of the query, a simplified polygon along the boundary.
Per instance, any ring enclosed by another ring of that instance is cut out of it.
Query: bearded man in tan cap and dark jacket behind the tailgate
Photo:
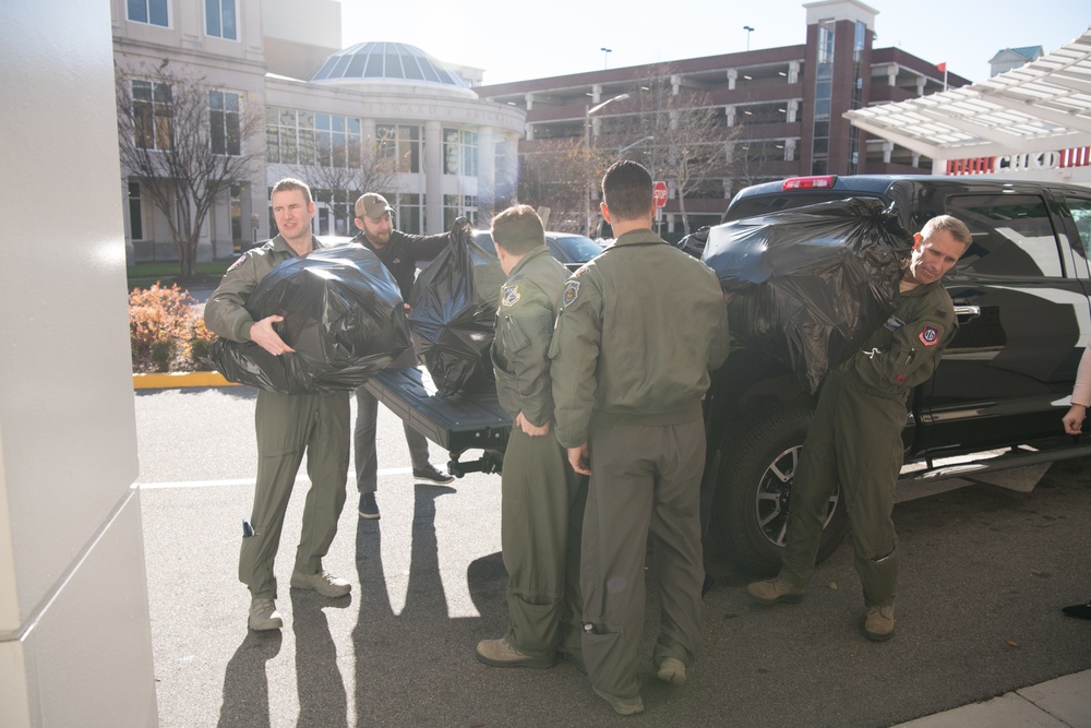
[[[417,277],[417,262],[431,261],[451,242],[451,232],[440,235],[408,235],[394,229],[391,217],[394,208],[386,198],[375,192],[360,195],[356,201],[356,226],[360,235],[352,242],[359,242],[373,253],[394,276],[401,299],[409,300],[413,281]],[[417,365],[412,349],[405,353],[392,367],[413,367]],[[356,428],[352,432],[356,450],[356,485],[360,489],[360,516],[364,518],[379,517],[379,504],[375,503],[375,490],[379,487],[379,460],[375,452],[375,426],[379,418],[379,401],[368,392],[365,386],[356,391]],[[428,461],[428,440],[424,435],[403,425],[406,442],[409,444],[409,456],[412,460],[412,475],[418,480],[445,484],[454,478],[436,469]]]

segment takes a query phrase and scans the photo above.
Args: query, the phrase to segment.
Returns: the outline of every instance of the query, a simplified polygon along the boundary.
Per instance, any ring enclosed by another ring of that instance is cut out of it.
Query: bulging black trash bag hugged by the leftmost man
[[[231,382],[281,394],[355,390],[410,346],[398,285],[357,243],[315,250],[271,271],[247,300],[295,354],[275,357],[253,342],[217,339],[209,356]]]

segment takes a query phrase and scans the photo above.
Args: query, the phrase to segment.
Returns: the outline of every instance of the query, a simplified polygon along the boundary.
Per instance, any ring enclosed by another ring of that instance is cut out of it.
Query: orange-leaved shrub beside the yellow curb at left
[[[216,336],[178,284],[155,284],[129,294],[129,342],[134,372],[193,371]]]

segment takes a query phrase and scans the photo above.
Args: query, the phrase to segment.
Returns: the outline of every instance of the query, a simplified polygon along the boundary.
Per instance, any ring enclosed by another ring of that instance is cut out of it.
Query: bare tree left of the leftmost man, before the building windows
[[[170,226],[179,272],[193,276],[201,228],[217,198],[264,156],[257,104],[209,86],[164,60],[119,69],[121,165]]]

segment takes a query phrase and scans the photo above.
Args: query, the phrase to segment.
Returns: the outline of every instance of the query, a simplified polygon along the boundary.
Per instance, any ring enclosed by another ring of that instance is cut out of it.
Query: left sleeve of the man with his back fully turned
[[[577,274],[568,278],[561,294],[561,310],[550,345],[554,432],[565,447],[587,442],[601,342],[602,291],[594,276]]]

